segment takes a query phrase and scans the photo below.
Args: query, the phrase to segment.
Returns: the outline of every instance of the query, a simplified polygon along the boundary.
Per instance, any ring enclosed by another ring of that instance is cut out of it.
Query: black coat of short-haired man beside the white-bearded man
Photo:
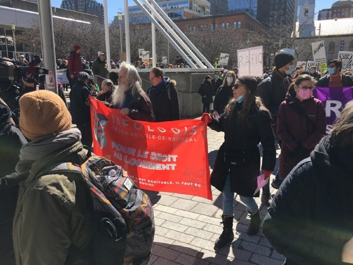
[[[175,88],[177,82],[170,80],[169,77],[164,77],[164,80],[166,82],[161,89],[150,87],[147,90],[147,95],[152,102],[156,122],[180,119],[179,97]]]

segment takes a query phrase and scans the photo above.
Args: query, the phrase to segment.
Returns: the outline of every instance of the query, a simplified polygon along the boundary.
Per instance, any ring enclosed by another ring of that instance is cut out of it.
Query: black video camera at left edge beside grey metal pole
[[[14,83],[22,83],[22,78],[25,82],[34,83],[38,81],[39,75],[47,75],[49,70],[35,66],[38,63],[40,63],[39,56],[37,59],[34,58],[29,66],[18,61],[0,58],[0,84],[8,84],[6,87],[0,86],[0,90],[7,90]]]

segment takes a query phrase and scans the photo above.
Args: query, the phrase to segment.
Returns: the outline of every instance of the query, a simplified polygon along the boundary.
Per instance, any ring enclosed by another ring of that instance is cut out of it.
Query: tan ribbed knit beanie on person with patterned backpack
[[[71,128],[71,114],[55,93],[38,90],[24,94],[20,100],[19,125],[29,140],[60,133]]]

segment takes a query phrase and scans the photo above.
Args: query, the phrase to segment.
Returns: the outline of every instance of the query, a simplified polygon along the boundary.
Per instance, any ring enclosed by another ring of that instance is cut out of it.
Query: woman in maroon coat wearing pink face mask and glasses
[[[282,141],[279,182],[301,160],[310,156],[326,132],[322,102],[312,96],[315,80],[299,75],[289,86],[277,113],[277,133]]]

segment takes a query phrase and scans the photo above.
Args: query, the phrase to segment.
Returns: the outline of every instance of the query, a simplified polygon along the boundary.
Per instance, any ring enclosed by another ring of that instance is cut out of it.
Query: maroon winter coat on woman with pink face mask
[[[289,106],[288,102],[294,101],[302,107],[309,122]],[[280,178],[284,179],[299,161],[310,156],[310,152],[326,134],[325,109],[322,102],[313,96],[300,102],[295,98],[294,88],[288,91],[286,100],[280,105],[277,113],[277,133],[282,141],[280,155]],[[295,157],[292,151],[301,145],[307,152],[300,157]]]

